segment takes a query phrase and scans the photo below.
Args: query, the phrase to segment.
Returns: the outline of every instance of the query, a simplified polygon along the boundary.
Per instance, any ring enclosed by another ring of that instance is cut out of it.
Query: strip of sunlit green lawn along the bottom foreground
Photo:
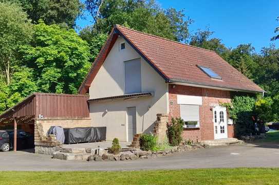
[[[92,164],[94,165],[94,164]],[[278,184],[279,169],[0,172],[0,184]]]

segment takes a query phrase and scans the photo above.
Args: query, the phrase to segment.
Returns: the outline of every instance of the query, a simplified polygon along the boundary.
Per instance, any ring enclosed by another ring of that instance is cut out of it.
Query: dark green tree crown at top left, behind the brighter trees
[[[84,5],[79,0],[12,0],[20,4],[33,23],[66,24],[72,28]]]

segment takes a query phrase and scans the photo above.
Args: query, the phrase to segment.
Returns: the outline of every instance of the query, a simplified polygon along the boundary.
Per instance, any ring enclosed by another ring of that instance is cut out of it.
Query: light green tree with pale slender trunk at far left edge
[[[10,83],[18,47],[31,39],[32,24],[16,4],[0,2],[0,70]]]

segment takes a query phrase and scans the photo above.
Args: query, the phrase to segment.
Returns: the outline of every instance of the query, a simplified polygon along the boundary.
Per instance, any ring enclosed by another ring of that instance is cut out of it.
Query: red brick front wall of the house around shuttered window
[[[169,85],[169,122],[172,117],[180,117],[180,105],[177,104],[177,95],[201,96],[202,105],[199,107],[200,128],[185,128],[183,139],[193,141],[214,139],[213,112],[211,106],[230,102],[230,91],[200,87]],[[233,126],[228,125],[228,137],[233,137]]]

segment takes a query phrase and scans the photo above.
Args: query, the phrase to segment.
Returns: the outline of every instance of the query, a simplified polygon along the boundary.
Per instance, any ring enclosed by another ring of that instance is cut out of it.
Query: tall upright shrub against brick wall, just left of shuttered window
[[[182,141],[184,121],[181,118],[172,118],[172,124],[168,124],[168,137],[172,146],[178,146]]]

